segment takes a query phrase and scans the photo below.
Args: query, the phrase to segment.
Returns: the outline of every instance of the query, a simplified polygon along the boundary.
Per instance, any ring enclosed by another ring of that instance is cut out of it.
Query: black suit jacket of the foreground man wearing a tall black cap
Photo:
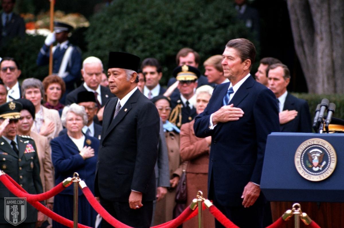
[[[113,120],[117,101],[118,98],[111,98],[105,105],[96,196],[128,202],[131,190],[135,190],[143,194],[142,201],[152,201],[159,142],[158,110],[137,89]]]

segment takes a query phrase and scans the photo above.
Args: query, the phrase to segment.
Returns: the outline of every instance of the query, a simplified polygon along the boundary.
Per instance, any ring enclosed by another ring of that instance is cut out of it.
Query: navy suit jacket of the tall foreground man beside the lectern
[[[204,112],[195,118],[194,130],[197,137],[212,136],[209,198],[215,194],[223,206],[241,206],[247,183],[260,184],[266,139],[271,132],[279,132],[279,117],[275,94],[248,77],[229,102],[241,108],[244,116],[210,130],[209,117],[222,107],[228,87],[229,82],[215,87]]]

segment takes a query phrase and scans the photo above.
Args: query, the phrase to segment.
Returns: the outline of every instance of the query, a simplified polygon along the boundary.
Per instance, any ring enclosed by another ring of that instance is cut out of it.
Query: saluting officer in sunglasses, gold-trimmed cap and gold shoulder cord
[[[173,70],[173,76],[179,81],[180,96],[171,97],[172,112],[169,121],[178,128],[182,124],[192,121],[196,116],[196,108],[193,106],[192,97],[200,74],[197,68],[189,65],[178,66]]]

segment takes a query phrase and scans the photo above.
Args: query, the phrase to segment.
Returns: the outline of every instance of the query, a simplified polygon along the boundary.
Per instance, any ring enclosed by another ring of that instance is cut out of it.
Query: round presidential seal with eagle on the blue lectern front
[[[321,181],[333,173],[337,164],[337,155],[329,142],[321,138],[311,138],[298,147],[294,161],[296,169],[303,178]]]

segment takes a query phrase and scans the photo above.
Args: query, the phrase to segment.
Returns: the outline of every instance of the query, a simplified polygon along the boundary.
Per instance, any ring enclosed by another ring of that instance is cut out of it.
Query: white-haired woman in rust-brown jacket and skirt
[[[196,90],[196,113],[202,113],[213,93],[213,87],[203,85]],[[186,167],[187,203],[189,206],[197,191],[201,190],[204,198],[208,198],[208,166],[211,136],[197,138],[193,129],[194,120],[185,123],[180,132],[180,156],[188,161]],[[198,227],[197,217],[184,222],[183,228]],[[203,227],[215,227],[214,216],[208,210],[203,212]]]

